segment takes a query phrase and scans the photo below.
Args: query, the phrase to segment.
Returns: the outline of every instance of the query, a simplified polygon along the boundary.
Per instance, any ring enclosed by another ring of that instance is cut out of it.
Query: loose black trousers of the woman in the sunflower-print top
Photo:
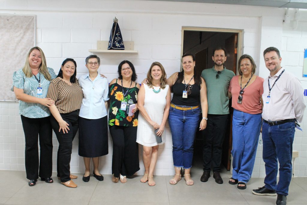
[[[109,127],[113,140],[112,174],[131,176],[140,170],[137,127],[113,125]]]

